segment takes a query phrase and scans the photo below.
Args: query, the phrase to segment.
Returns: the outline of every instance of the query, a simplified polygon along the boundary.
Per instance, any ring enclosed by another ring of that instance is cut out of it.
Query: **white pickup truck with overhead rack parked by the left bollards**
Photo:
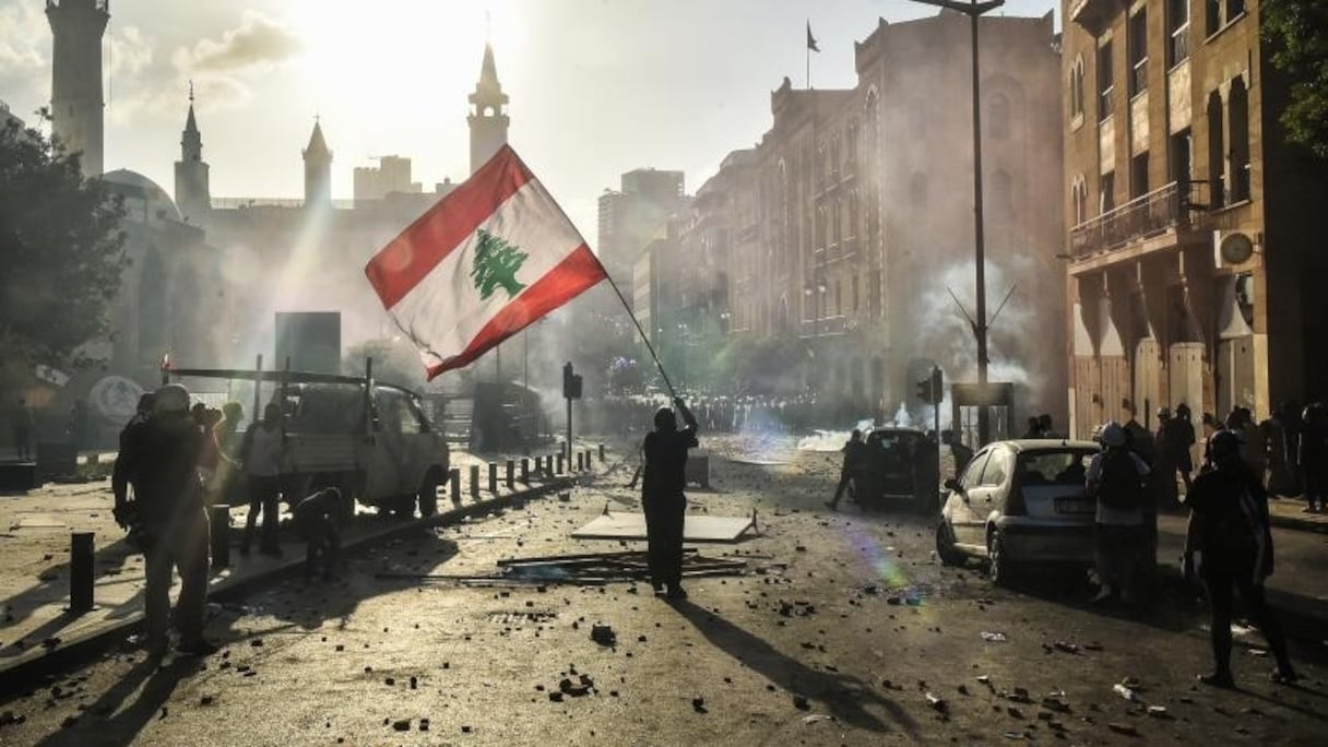
[[[448,444],[420,408],[420,396],[371,376],[295,371],[171,370],[179,377],[224,377],[271,384],[282,405],[283,489],[295,502],[336,486],[355,501],[401,516],[438,510],[448,479]],[[255,404],[255,411],[259,408]]]

